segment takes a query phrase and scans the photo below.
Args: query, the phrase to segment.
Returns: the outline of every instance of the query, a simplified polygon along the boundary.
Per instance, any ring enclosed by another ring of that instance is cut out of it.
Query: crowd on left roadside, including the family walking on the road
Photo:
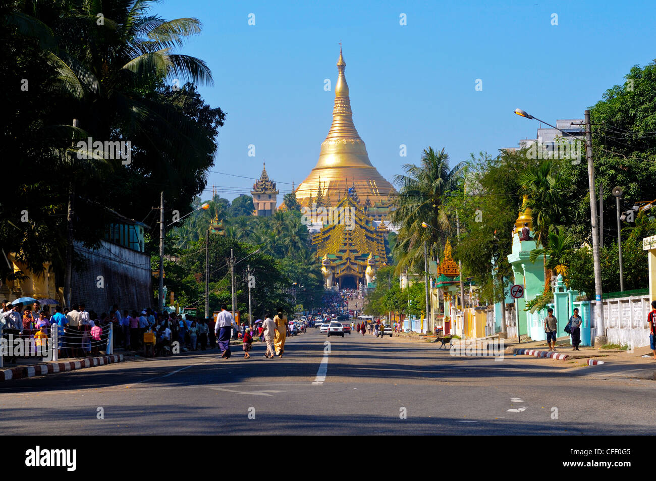
[[[38,302],[12,305],[5,300],[0,312],[0,327],[3,337],[33,339],[35,346],[52,344],[52,335],[57,335],[58,356],[60,358],[81,358],[98,355],[100,350],[107,351],[110,336],[113,348],[148,352],[152,347],[155,355],[169,354],[174,343],[184,351],[197,351],[219,348],[223,358],[230,358],[230,341],[241,342],[244,358],[250,357],[253,337],[256,335],[267,343],[266,358],[281,358],[285,339],[298,329],[287,321],[282,310],[276,316],[266,313],[265,319],[255,327],[237,326],[222,306],[216,320],[214,318],[196,318],[174,312],[156,312],[152,308],[143,310],[121,310],[114,304],[109,310],[98,315],[93,310],[87,311],[84,303],[74,304],[72,308],[55,306],[50,312],[49,306]],[[150,338],[146,333],[152,333]],[[52,345],[51,345],[52,347]],[[30,354],[26,354],[30,355]],[[16,364],[17,356],[8,356],[8,362]]]

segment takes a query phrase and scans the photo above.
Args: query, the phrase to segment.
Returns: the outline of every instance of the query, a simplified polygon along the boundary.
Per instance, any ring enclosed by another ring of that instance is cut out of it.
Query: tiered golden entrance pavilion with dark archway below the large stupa
[[[340,289],[357,289],[360,283],[366,287],[367,267],[371,266],[371,277],[374,266],[387,263],[387,230],[375,226],[374,220],[365,215],[351,196],[342,198],[335,208],[353,217],[347,222],[325,224],[312,239],[321,259],[325,285],[331,287],[335,280]]]

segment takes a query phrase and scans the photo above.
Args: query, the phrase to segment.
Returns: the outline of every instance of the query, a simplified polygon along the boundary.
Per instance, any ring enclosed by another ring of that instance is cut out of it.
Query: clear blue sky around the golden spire
[[[314,167],[340,41],[354,123],[390,181],[427,146],[445,148],[453,165],[535,138],[539,124],[515,108],[549,123],[581,118],[631,66],[656,58],[653,1],[167,0],[153,11],[203,22],[182,52],[207,62],[215,84],[199,90],[227,113],[207,188],[228,199],[253,184],[233,176],[259,177],[262,160],[279,199]]]

